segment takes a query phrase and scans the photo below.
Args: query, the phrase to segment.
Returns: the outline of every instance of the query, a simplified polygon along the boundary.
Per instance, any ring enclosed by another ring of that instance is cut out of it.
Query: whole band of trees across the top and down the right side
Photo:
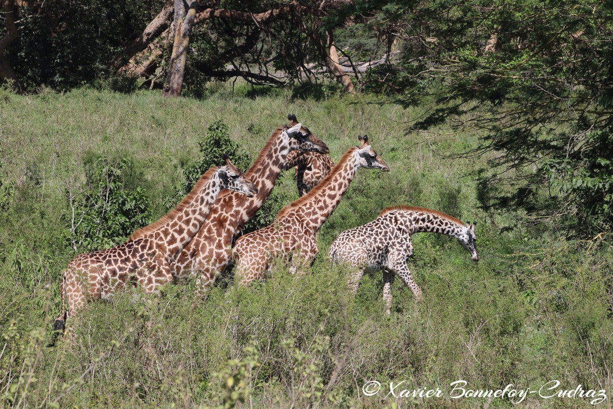
[[[471,129],[485,210],[613,224],[611,2],[2,0],[0,81],[200,96],[212,80],[338,82]]]

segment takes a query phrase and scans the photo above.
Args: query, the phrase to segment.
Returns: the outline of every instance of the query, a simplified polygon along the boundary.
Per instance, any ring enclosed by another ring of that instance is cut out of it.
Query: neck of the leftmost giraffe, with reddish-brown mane
[[[204,224],[221,189],[227,184],[227,180],[223,180],[224,177],[226,176],[216,170],[204,185],[198,186],[196,184],[194,189],[197,189],[197,191],[193,195],[193,199],[185,204],[185,207],[174,218],[164,221],[147,235],[156,242],[166,243],[166,246],[161,248],[165,248],[162,253],[169,262],[177,258],[181,250],[194,239],[194,236]]]

